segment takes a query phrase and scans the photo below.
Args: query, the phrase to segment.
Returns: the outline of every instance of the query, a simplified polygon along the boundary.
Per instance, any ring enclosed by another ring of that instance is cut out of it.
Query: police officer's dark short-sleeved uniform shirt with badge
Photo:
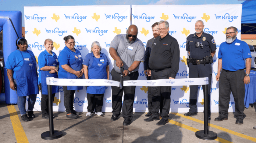
[[[202,41],[203,49],[196,47],[196,42]],[[210,56],[210,47],[211,52],[214,52],[216,48],[216,44],[212,35],[207,33],[202,33],[200,37],[195,34],[190,34],[186,38],[186,51],[190,52],[190,57],[194,59],[201,60],[203,57]]]

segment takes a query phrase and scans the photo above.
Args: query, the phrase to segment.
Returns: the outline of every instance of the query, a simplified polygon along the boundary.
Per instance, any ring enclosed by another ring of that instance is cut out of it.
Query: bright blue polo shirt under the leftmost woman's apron
[[[6,61],[6,68],[13,70],[13,78],[16,79],[16,72],[23,66],[23,59],[22,55],[24,58],[29,58],[32,56],[33,59],[35,58],[35,55],[31,50],[26,50],[24,52],[20,52],[19,50],[15,50],[12,52]]]

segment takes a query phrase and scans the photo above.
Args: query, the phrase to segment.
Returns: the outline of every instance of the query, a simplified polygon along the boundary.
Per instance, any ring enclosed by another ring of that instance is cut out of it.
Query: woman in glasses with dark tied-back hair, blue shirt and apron
[[[75,49],[75,39],[68,35],[64,37],[65,47],[61,50],[58,61],[60,62],[59,78],[62,79],[82,79],[83,59],[79,50]],[[82,86],[63,86],[64,106],[66,108],[67,118],[78,118],[80,112],[74,110],[74,94],[76,90],[82,90]]]

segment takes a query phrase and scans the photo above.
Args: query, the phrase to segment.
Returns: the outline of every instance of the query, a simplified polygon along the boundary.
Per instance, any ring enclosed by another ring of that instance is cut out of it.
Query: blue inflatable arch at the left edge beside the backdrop
[[[21,37],[22,35],[22,13],[20,11],[0,11],[0,31],[3,30],[3,53],[5,64],[10,53],[17,49],[15,41],[18,38],[9,18],[12,20],[18,36]],[[7,74],[7,70],[4,68],[6,104],[17,104],[18,97],[16,91],[10,89],[10,83]]]

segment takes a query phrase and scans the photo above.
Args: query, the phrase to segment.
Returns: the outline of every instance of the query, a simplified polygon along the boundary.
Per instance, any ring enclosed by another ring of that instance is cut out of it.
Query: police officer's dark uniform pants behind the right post
[[[198,64],[193,65],[192,63],[189,64],[189,78],[205,78],[208,77],[209,84],[208,84],[208,114],[211,114],[210,102],[211,102],[211,64]],[[197,98],[198,98],[198,85],[189,86],[189,112],[195,113],[197,112]]]

